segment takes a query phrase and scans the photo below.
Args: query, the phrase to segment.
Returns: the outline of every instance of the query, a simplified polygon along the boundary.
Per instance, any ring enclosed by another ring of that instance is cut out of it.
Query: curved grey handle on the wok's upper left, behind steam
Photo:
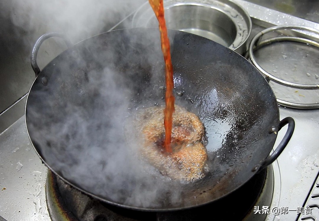
[[[51,32],[51,33],[46,33],[44,35],[42,35],[34,44],[33,46],[33,49],[32,49],[32,52],[31,52],[31,67],[35,73],[35,76],[37,77],[41,70],[37,64],[37,55],[38,55],[38,50],[41,46],[41,44],[43,43],[43,41],[45,41],[46,39],[48,38],[52,38],[52,37],[58,37],[58,38],[62,38],[66,44],[66,46],[69,48],[69,47],[72,47],[72,43],[70,42],[70,40],[66,39],[64,37],[63,34],[61,33],[57,33],[57,32]]]

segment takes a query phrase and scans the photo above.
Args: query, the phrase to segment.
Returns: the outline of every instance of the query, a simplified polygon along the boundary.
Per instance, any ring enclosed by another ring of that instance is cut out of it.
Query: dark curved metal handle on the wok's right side
[[[266,159],[261,161],[259,165],[254,167],[252,171],[256,171],[257,169],[258,169],[258,171],[261,171],[264,168],[268,167],[273,161],[275,161],[277,159],[277,157],[280,155],[280,153],[285,149],[291,136],[293,135],[293,130],[295,129],[295,121],[293,120],[292,117],[286,117],[286,118],[282,119],[279,122],[278,131],[286,124],[288,124],[286,134],[285,134],[284,138],[281,140],[281,142],[279,143],[279,145],[277,146],[277,148]]]

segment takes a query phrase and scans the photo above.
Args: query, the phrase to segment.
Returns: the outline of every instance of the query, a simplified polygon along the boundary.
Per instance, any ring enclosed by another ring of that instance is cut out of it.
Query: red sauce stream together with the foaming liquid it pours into
[[[141,153],[161,174],[177,180],[194,181],[205,176],[204,125],[195,114],[174,105],[173,65],[163,0],[149,0],[149,3],[159,21],[165,61],[166,105],[150,107],[137,114],[136,126],[143,137]]]

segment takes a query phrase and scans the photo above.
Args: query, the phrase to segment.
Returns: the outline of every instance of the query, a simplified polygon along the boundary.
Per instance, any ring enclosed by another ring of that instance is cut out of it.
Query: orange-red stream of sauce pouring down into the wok
[[[164,6],[163,0],[149,0],[149,3],[159,21],[159,32],[161,39],[161,48],[165,61],[165,82],[166,82],[166,92],[165,92],[165,109],[164,109],[164,127],[165,127],[165,140],[164,148],[167,153],[172,153],[171,147],[171,137],[172,137],[172,122],[173,122],[173,112],[174,108],[174,82],[173,82],[173,65],[171,60],[169,39],[167,36],[167,28],[164,18]]]

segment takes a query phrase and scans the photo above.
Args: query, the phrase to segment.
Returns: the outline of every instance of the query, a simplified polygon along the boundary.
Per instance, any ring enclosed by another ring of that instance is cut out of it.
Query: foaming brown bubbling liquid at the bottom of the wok
[[[203,178],[207,171],[205,129],[200,119],[185,108],[175,106],[172,124],[172,153],[165,151],[164,107],[149,107],[136,116],[140,153],[162,175],[181,181]]]

